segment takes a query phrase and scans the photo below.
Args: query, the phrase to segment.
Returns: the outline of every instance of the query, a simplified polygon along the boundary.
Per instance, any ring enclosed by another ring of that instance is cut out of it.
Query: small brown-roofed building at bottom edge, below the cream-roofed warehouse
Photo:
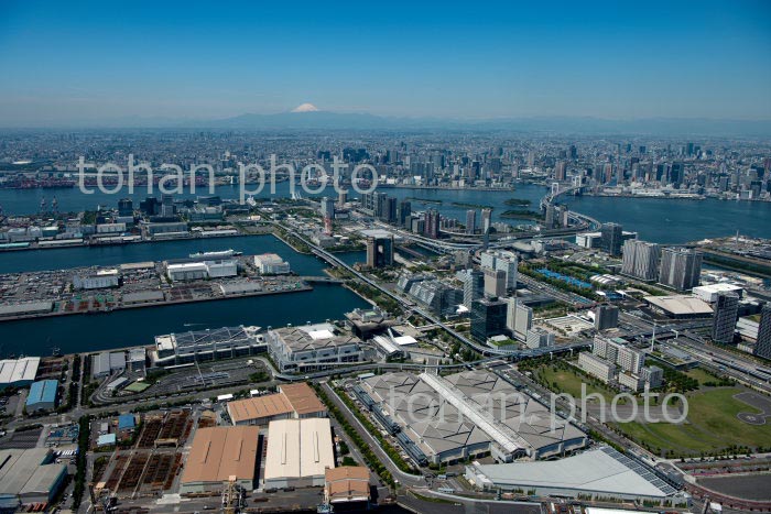
[[[324,506],[327,512],[362,512],[370,507],[369,469],[344,466],[324,474]]]

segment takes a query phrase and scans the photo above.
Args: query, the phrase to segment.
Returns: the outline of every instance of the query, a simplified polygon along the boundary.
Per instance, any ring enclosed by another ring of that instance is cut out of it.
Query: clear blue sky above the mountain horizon
[[[0,2],[0,125],[302,102],[409,117],[771,119],[765,1],[191,3]]]

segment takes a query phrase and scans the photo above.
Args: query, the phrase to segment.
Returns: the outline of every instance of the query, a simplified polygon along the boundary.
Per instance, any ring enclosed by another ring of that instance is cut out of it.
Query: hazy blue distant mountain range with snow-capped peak
[[[589,117],[532,117],[490,119],[395,118],[315,109],[275,114],[240,114],[224,119],[121,118],[101,122],[52,123],[50,128],[222,129],[222,130],[452,130],[508,131],[554,134],[650,134],[702,136],[771,136],[771,120],[707,118],[649,118],[609,120]]]

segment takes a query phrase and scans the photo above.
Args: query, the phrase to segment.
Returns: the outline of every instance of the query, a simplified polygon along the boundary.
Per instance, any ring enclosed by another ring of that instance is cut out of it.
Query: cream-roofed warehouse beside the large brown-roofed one
[[[265,489],[324,485],[335,467],[332,426],[327,418],[280,419],[268,425]]]

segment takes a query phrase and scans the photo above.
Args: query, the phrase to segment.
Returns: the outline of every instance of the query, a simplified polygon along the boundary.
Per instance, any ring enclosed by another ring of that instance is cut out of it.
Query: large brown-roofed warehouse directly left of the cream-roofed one
[[[180,493],[221,491],[235,477],[247,491],[254,489],[258,427],[199,428],[182,474]]]

